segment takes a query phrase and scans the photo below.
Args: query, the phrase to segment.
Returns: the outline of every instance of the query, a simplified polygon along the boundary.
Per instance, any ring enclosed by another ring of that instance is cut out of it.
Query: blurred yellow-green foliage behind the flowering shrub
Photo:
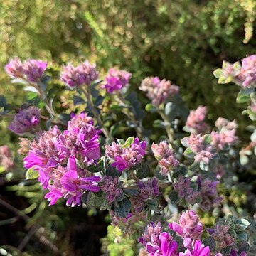
[[[112,66],[129,70],[133,74],[134,89],[148,75],[171,80],[181,87],[187,107],[208,106],[211,122],[218,116],[238,119],[241,136],[249,120],[240,115],[244,106],[235,103],[239,88],[218,85],[212,73],[223,60],[235,62],[255,53],[255,16],[255,0],[1,0],[0,94],[16,105],[24,99],[21,87],[12,85],[4,73],[9,58],[48,60],[53,70],[58,70],[63,63],[88,58],[97,63],[102,74]],[[6,121],[1,120],[0,145],[9,144],[15,149],[17,138],[6,132]],[[21,168],[17,171],[22,180],[23,171]],[[22,191],[21,185],[15,187],[18,179],[2,182],[2,198],[6,196],[10,203],[15,203],[18,195],[23,199],[18,199],[17,208],[36,204],[38,209],[42,198],[39,188],[31,186],[31,191],[26,191],[27,188]],[[9,198],[10,193],[13,198]],[[48,230],[48,240],[54,240],[60,252],[99,255],[99,236],[106,233],[102,215],[89,218],[83,209],[64,211],[61,204],[59,208],[44,209],[45,206],[41,206],[36,217],[33,209],[28,210],[28,215],[31,214],[34,221],[40,219],[39,225]],[[48,219],[42,220],[42,214]],[[58,215],[63,218],[56,220]],[[102,227],[92,235],[92,241],[82,237],[86,228],[81,231],[82,235],[75,233],[75,227],[85,218],[88,230],[95,225]],[[95,224],[98,220],[100,224]],[[30,228],[27,224],[26,230]],[[18,240],[9,243],[19,245],[26,230],[21,223]],[[88,241],[92,245],[90,252],[85,246]],[[3,242],[0,241],[0,245]],[[43,253],[41,247],[28,246],[27,250],[37,255]]]

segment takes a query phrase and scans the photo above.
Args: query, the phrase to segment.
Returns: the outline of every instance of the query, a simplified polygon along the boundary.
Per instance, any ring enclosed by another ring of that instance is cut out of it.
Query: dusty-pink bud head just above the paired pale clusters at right
[[[205,122],[206,113],[207,109],[203,106],[199,106],[196,110],[191,110],[186,120],[186,127],[196,134],[207,132],[209,127]]]

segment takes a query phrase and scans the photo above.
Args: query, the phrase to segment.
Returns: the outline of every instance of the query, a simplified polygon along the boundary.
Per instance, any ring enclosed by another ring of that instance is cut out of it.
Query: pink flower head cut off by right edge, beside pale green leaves
[[[242,87],[256,86],[256,54],[242,59],[242,68],[238,78],[242,80]]]

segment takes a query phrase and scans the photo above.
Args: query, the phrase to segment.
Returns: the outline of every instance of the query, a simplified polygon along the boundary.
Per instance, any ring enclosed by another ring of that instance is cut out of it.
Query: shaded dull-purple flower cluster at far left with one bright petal
[[[40,110],[37,107],[28,107],[14,115],[14,120],[9,124],[9,130],[16,134],[33,133],[40,122]]]

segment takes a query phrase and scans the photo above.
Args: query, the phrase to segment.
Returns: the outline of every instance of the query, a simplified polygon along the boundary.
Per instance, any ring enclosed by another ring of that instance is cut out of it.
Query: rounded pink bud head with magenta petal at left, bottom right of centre
[[[169,223],[169,228],[184,239],[186,248],[190,247],[192,242],[200,239],[203,233],[203,224],[193,210],[182,213],[178,223]]]

